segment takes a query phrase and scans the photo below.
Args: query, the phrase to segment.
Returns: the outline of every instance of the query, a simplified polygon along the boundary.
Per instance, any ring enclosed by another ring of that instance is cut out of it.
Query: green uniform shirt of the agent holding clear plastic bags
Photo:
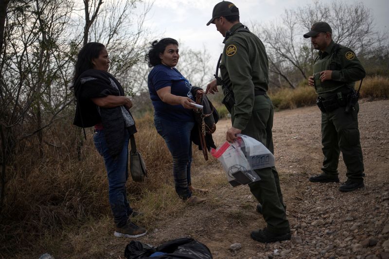
[[[262,41],[248,31],[240,31],[242,23],[232,26],[225,41],[220,73],[234,93],[233,127],[245,129],[254,105],[254,88],[267,91],[268,60]]]

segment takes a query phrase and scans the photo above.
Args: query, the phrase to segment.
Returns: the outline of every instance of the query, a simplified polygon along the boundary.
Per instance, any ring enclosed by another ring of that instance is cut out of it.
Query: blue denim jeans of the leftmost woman
[[[96,130],[93,136],[94,144],[100,155],[104,157],[108,178],[108,198],[116,226],[123,227],[132,213],[127,200],[125,183],[128,178],[128,142],[129,134],[125,131],[122,152],[112,157],[108,154],[104,129]]]

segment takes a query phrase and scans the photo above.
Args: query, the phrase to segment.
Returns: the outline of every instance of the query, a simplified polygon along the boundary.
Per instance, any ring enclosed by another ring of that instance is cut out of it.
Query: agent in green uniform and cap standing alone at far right
[[[308,84],[315,87],[317,104],[321,110],[321,143],[323,145],[323,173],[311,176],[311,182],[339,182],[337,166],[340,151],[347,167],[347,181],[339,187],[341,191],[362,188],[364,167],[359,140],[358,111],[355,103],[350,107],[355,81],[365,75],[355,53],[332,40],[332,29],[326,22],[315,23],[304,38],[319,50],[315,60],[313,76]]]

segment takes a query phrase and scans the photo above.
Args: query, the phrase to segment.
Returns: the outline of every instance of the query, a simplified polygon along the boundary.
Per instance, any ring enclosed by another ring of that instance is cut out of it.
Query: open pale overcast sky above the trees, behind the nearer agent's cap
[[[213,6],[220,0],[155,0],[147,16],[145,26],[152,31],[155,39],[171,37],[178,40],[180,50],[189,47],[202,50],[203,46],[212,54],[215,64],[223,50],[223,36],[216,31],[214,24],[206,26],[212,17]],[[313,0],[231,0],[238,8],[242,23],[259,24],[269,22],[281,14],[284,9],[294,9]],[[320,2],[329,3],[330,0]],[[347,3],[360,1],[346,0]],[[376,29],[389,32],[389,0],[364,0],[371,9]]]

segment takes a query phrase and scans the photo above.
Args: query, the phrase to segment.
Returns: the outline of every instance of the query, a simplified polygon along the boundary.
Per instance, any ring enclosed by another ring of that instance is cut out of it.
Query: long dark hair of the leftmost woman
[[[93,69],[92,59],[98,58],[105,46],[98,42],[89,42],[78,52],[74,69],[73,86],[82,72]]]

